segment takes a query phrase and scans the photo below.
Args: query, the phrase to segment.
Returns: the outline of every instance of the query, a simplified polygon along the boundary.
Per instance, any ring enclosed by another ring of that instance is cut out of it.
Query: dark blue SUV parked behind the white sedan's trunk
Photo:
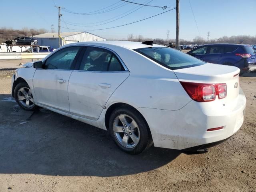
[[[256,70],[256,53],[250,45],[208,44],[187,54],[209,63],[236,66],[241,73]]]

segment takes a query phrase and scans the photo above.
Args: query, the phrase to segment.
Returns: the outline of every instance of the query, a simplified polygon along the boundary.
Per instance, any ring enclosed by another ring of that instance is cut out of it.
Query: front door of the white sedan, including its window
[[[36,103],[69,111],[68,80],[80,46],[63,48],[44,61],[33,77]]]

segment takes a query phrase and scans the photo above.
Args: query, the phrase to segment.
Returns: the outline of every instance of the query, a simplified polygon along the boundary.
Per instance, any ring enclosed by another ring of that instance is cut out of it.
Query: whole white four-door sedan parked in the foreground
[[[25,110],[40,106],[108,130],[138,154],[154,144],[202,150],[242,126],[240,70],[152,42],[80,42],[29,62],[12,78]]]

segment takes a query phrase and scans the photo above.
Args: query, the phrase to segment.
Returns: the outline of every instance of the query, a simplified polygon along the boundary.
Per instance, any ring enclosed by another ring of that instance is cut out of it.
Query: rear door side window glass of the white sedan
[[[124,68],[112,52],[102,48],[88,47],[81,60],[79,70],[122,71]]]

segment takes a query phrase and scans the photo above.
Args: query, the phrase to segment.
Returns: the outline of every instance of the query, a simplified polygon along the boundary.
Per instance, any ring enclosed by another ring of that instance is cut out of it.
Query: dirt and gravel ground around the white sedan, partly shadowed
[[[246,116],[228,141],[204,154],[151,147],[131,156],[104,130],[20,109],[6,69],[19,62],[0,62],[0,192],[256,191],[256,73],[240,77]]]

